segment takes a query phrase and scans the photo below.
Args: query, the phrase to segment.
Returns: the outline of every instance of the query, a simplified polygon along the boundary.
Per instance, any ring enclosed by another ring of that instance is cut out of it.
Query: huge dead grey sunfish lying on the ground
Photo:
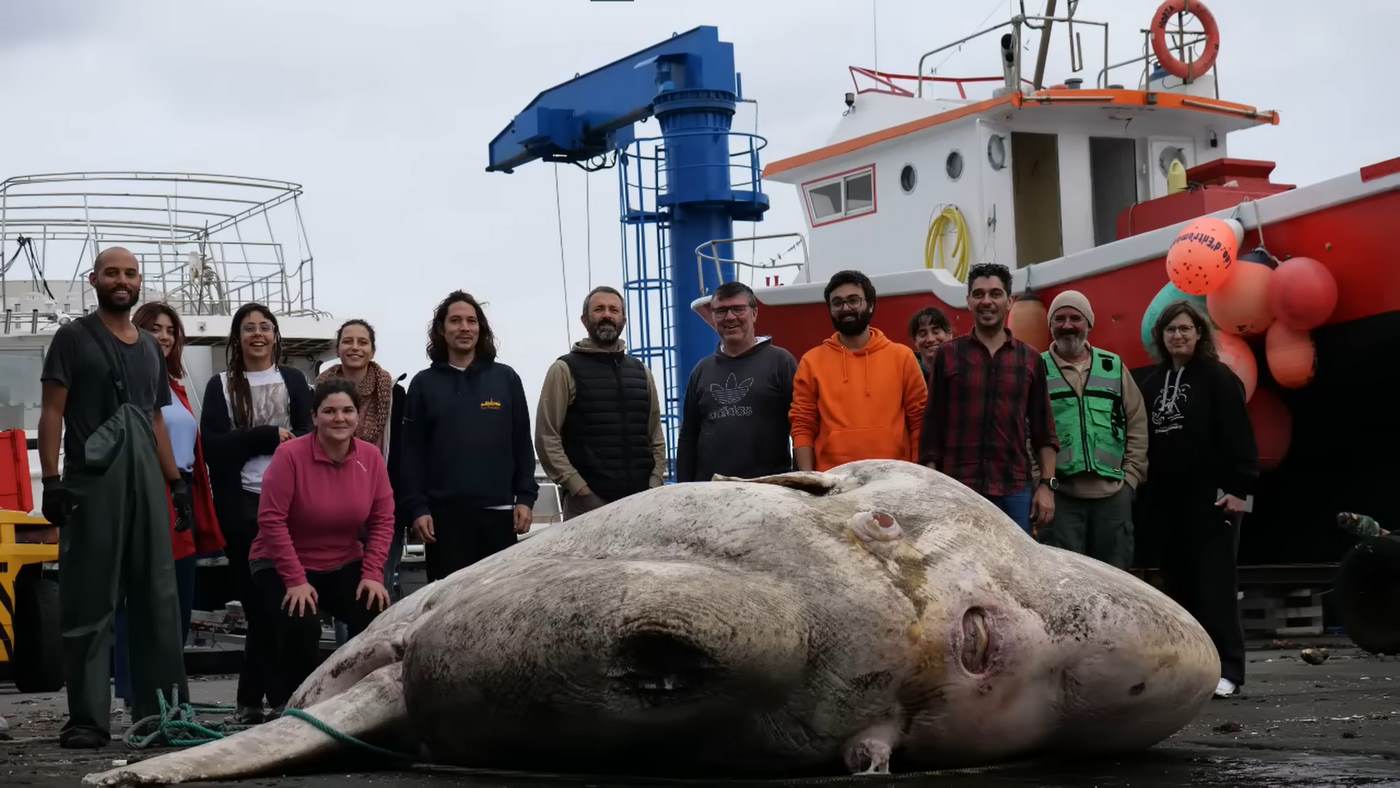
[[[424,760],[799,774],[1151,746],[1219,677],[1182,607],[903,462],[668,486],[433,584],[291,705]],[[88,782],[274,773],[281,718]]]

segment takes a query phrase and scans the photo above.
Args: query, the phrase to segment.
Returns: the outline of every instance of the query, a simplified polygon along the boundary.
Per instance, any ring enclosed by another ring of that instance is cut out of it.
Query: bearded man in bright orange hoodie
[[[914,351],[871,328],[875,286],[837,272],[825,291],[836,333],[808,350],[792,379],[792,456],[798,470],[857,459],[917,462],[928,389]]]

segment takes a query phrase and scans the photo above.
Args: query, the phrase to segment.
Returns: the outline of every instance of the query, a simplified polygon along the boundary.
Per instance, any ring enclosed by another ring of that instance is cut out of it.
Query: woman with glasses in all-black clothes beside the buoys
[[[1245,386],[1219,361],[1211,325],[1190,304],[1162,311],[1152,332],[1162,364],[1142,381],[1151,403],[1142,511],[1163,542],[1162,577],[1215,642],[1217,697],[1245,683],[1235,554],[1245,500],[1259,476]]]

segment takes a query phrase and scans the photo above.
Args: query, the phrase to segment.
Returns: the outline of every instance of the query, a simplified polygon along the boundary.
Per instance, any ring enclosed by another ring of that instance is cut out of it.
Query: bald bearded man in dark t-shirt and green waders
[[[63,570],[63,747],[101,747],[111,739],[112,621],[123,599],[133,715],[160,712],[157,690],[175,687],[189,697],[167,484],[186,523],[193,498],[161,417],[171,402],[165,356],[154,335],[132,323],[141,291],[134,255],[104,249],[88,283],[98,309],[53,336],[39,416],[43,516],[59,526]]]

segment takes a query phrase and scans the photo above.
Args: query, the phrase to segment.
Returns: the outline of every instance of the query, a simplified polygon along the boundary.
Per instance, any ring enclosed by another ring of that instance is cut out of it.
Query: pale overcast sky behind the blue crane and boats
[[[1140,52],[1137,29],[1155,7],[1085,0],[1079,15],[1113,25],[1117,62]],[[1385,98],[1400,3],[1210,7],[1222,28],[1222,98],[1282,116],[1232,136],[1232,155],[1275,160],[1274,179],[1299,185],[1400,155],[1400,109]],[[1008,8],[876,0],[872,24],[871,0],[4,0],[0,176],[175,169],[300,182],[318,307],[368,318],[381,363],[413,372],[426,365],[433,305],[466,288],[489,302],[500,360],[521,374],[533,410],[546,365],[581,335],[589,284],[585,175],[559,169],[566,298],[553,165],[484,172],[487,141],[538,91],[718,25],[773,161],[825,141],[850,90],[846,67],[872,64],[876,41],[882,69],[913,71],[920,53]],[[1102,66],[1092,35],[1086,83]],[[1047,81],[1070,76],[1064,43],[1061,29]],[[994,48],[991,38],[967,46],[939,73],[995,74]],[[736,126],[752,125],[743,108]],[[616,175],[595,174],[587,189],[592,281],[616,286]],[[769,193],[763,231],[802,230],[791,188]]]

